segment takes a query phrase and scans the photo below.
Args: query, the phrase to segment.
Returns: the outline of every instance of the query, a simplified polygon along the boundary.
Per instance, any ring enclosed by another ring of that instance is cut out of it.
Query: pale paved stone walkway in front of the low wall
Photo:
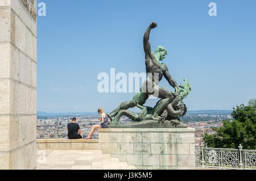
[[[37,170],[135,170],[101,150],[42,150],[38,151]],[[46,159],[44,159],[46,158]],[[45,161],[45,163],[41,163]]]

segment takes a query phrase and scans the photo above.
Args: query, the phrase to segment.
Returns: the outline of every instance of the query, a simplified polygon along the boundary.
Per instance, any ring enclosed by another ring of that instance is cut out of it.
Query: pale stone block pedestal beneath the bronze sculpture
[[[195,169],[193,128],[98,129],[102,153],[137,169]]]

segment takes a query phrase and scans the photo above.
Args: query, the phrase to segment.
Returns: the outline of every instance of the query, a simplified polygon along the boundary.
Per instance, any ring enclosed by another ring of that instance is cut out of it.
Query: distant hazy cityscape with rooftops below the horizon
[[[209,110],[209,111],[188,111],[187,115],[181,117],[181,122],[189,128],[195,128],[195,144],[197,147],[201,145],[201,134],[208,132],[213,134],[213,127],[222,126],[222,120],[232,120],[232,111]],[[37,138],[53,139],[68,138],[67,125],[71,122],[72,117],[76,117],[77,123],[80,125],[83,137],[88,136],[94,124],[100,124],[99,115],[96,113],[67,113],[61,115],[54,113],[39,113],[37,119]],[[130,123],[130,119],[123,116],[119,124]],[[94,132],[93,139],[98,139],[98,131]]]

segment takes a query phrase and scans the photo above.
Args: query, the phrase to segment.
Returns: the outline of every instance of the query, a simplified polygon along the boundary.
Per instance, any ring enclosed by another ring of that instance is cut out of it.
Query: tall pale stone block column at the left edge
[[[0,1],[0,169],[36,168],[36,0]]]

